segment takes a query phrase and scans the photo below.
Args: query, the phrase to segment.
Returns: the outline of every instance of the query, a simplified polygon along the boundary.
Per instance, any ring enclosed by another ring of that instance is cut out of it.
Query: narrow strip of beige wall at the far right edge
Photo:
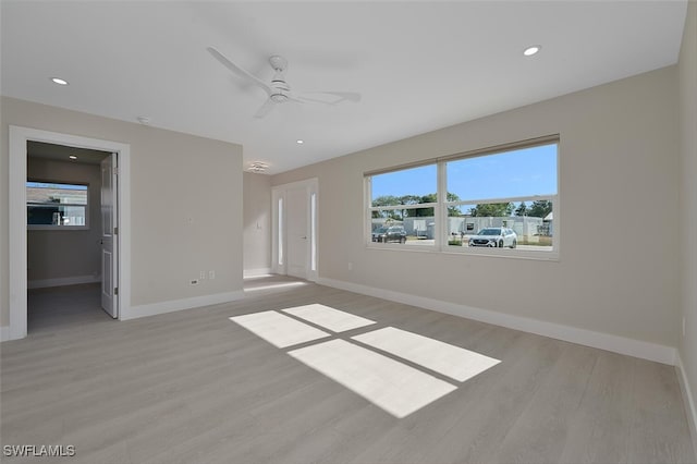
[[[685,335],[680,337],[680,356],[692,388],[693,418],[697,419],[697,2],[687,8],[680,53],[680,119],[682,154],[680,241],[682,261],[682,318]],[[681,320],[682,323],[682,320]],[[693,424],[695,426],[695,424]],[[693,428],[697,452],[697,430]]]

